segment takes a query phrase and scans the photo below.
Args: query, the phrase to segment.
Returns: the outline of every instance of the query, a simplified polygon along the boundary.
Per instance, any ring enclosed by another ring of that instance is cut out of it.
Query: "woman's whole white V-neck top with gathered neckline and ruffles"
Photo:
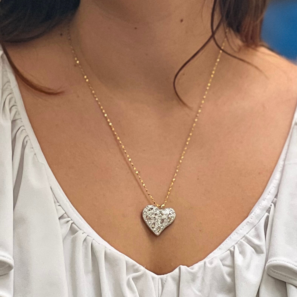
[[[0,90],[1,297],[297,297],[297,109],[244,222],[204,260],[156,275],[111,247],[71,205],[1,48]]]

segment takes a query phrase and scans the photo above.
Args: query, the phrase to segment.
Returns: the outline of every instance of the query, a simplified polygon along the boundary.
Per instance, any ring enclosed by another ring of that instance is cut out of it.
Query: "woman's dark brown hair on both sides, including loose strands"
[[[229,28],[249,47],[257,47],[261,25],[268,0],[214,0],[211,11],[211,36],[197,52],[178,70],[173,80],[176,91],[176,78],[181,70],[194,59],[208,42],[213,39],[220,26]],[[0,1],[0,43],[16,75],[32,89],[45,94],[58,94],[52,89],[39,86],[26,78],[15,66],[5,48],[6,42],[26,42],[50,31],[77,10],[80,0],[1,0]],[[219,9],[221,18],[214,24],[215,13]],[[225,52],[225,50],[223,50]],[[227,53],[227,52],[225,52]],[[227,53],[230,56],[230,53]],[[233,56],[237,58],[236,56]],[[239,59],[239,58],[237,58]],[[241,60],[241,59],[240,59]],[[178,93],[176,91],[178,96]],[[178,96],[179,97],[179,96]],[[181,99],[179,97],[179,99]]]

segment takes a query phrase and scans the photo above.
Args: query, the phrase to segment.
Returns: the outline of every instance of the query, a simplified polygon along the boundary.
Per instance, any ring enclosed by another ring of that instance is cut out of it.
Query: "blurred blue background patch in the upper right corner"
[[[297,0],[271,0],[264,16],[262,39],[297,63]]]

